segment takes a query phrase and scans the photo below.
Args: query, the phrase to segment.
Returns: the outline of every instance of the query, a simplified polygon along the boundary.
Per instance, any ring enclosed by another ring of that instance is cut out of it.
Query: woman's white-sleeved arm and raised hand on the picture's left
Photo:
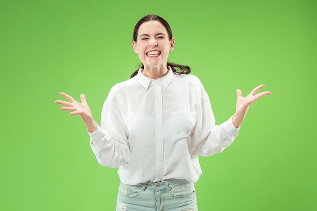
[[[85,95],[81,95],[82,103],[75,101],[65,93],[60,93],[60,95],[69,102],[57,100],[55,103],[63,105],[61,110],[70,111],[70,115],[78,114],[84,121],[91,137],[91,148],[98,162],[109,167],[119,167],[127,163],[131,152],[120,114],[116,110],[111,110],[108,104],[105,104],[100,128],[92,117]]]

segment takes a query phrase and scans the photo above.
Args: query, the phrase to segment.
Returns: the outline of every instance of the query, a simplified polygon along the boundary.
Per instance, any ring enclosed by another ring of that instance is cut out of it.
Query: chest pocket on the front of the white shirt
[[[196,112],[171,112],[172,142],[188,146],[196,122]]]

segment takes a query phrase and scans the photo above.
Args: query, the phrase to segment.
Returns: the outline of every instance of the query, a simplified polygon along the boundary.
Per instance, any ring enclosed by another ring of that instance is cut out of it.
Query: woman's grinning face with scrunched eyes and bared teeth
[[[144,69],[166,69],[169,52],[174,50],[174,42],[174,38],[169,40],[166,28],[161,22],[148,21],[140,25],[137,41],[133,41],[132,44]]]

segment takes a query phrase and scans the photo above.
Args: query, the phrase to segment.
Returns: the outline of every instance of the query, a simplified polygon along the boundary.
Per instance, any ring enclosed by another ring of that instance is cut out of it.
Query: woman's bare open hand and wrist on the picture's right
[[[256,94],[263,87],[264,85],[256,87],[247,97],[242,97],[242,91],[236,90],[237,99],[235,113],[232,116],[232,123],[235,126],[235,128],[238,128],[240,124],[243,122],[249,110],[249,107],[253,102],[255,102],[257,99],[260,99],[261,97],[264,97],[265,95],[271,94],[271,92],[269,91]]]

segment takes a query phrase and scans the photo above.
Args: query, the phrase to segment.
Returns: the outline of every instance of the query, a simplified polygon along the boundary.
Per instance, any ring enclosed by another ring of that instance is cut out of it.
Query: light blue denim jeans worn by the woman
[[[120,184],[116,211],[197,211],[195,185],[187,180]]]

